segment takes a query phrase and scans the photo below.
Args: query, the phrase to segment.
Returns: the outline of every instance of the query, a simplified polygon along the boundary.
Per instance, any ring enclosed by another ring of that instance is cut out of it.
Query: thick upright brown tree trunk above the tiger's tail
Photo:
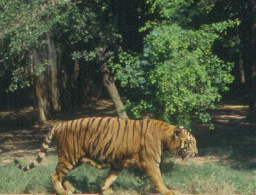
[[[38,122],[43,123],[50,112],[60,110],[60,92],[58,88],[57,54],[50,32],[45,33],[47,43],[39,45],[32,53],[33,66],[45,66],[39,76],[35,76],[35,111]],[[45,64],[49,61],[50,64]]]

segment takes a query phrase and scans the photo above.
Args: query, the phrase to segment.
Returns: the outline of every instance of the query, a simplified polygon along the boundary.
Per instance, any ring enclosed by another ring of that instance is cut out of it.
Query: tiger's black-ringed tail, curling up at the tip
[[[47,136],[45,136],[44,143],[42,144],[42,147],[40,149],[38,157],[35,159],[35,161],[33,161],[33,163],[30,163],[28,166],[22,166],[19,163],[19,161],[17,161],[17,159],[14,159],[14,163],[17,165],[17,167],[20,170],[28,171],[28,170],[31,170],[31,169],[35,168],[35,166],[37,166],[39,163],[41,163],[42,159],[45,156],[45,153],[47,152],[49,146],[51,145],[52,137],[54,136],[56,129],[58,129],[58,126],[59,125],[56,125],[56,126],[52,127],[51,131],[49,131]]]

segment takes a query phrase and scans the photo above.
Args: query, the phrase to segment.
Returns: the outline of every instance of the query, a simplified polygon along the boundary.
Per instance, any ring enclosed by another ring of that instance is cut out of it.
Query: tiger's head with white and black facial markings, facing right
[[[179,155],[182,160],[198,154],[195,137],[184,127],[175,128],[168,150],[172,154]]]

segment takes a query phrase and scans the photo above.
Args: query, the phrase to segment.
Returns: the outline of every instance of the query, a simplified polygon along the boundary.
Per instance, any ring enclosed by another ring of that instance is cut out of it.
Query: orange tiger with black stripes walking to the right
[[[102,194],[111,194],[110,188],[124,168],[138,167],[148,176],[157,191],[164,195],[178,194],[164,185],[159,164],[165,151],[183,160],[198,154],[195,137],[184,127],[177,127],[156,119],[120,119],[118,117],[87,117],[62,122],[52,127],[45,136],[38,157],[28,166],[15,164],[22,171],[38,165],[55,135],[58,164],[51,175],[57,194],[76,192],[67,180],[67,174],[81,164],[97,169],[109,168]]]

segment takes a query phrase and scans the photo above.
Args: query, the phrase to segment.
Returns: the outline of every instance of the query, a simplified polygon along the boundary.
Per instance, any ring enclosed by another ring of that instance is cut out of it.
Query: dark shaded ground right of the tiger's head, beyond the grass
[[[213,130],[207,124],[193,125],[199,157],[212,157],[237,169],[255,169],[256,124],[246,119],[248,106],[218,105],[210,113]]]

